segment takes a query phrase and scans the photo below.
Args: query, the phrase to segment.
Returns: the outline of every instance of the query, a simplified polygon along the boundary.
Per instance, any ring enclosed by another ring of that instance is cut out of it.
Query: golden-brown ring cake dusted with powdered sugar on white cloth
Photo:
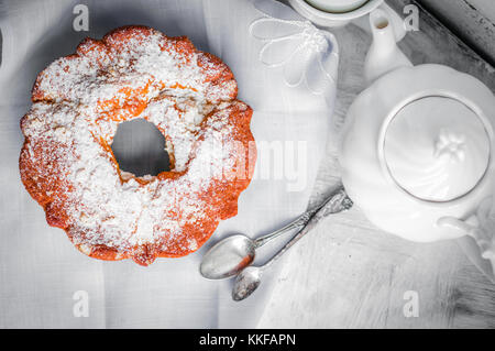
[[[252,110],[237,94],[229,67],[187,37],[125,26],[86,39],[36,78],[21,179],[48,224],[91,257],[148,265],[187,255],[237,215],[253,175]],[[110,145],[134,118],[165,135],[173,171],[119,168]]]

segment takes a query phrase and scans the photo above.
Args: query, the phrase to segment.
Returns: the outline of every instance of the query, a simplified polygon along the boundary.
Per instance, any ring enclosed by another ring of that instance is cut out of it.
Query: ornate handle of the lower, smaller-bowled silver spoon
[[[314,229],[318,222],[331,213],[342,212],[352,207],[353,202],[348,197],[343,187],[338,188],[322,205],[318,206],[306,226],[300,229],[289,242],[287,242],[272,259],[270,259],[263,266],[263,270],[272,265],[277,259],[279,259],[288,249],[290,249],[300,238],[306,235],[311,229]],[[306,212],[308,213],[308,212]]]

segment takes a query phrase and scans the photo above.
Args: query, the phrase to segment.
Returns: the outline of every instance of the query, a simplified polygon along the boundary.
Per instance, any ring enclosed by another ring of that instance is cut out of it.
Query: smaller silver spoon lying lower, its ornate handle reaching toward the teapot
[[[244,268],[235,278],[235,284],[232,289],[232,298],[235,301],[243,300],[250,296],[261,284],[263,272],[270,267],[277,259],[279,259],[290,246],[293,246],[300,238],[306,235],[311,229],[314,229],[318,222],[331,213],[341,212],[352,207],[352,200],[345,194],[345,190],[341,187],[332,196],[330,196],[322,206],[310,218],[308,223],[300,229],[284,248],[282,248],[272,259],[261,266],[251,266]]]

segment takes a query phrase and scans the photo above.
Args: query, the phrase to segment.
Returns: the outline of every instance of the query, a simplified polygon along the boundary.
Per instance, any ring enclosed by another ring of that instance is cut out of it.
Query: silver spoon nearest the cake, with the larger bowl
[[[293,229],[302,228],[319,208],[306,211],[287,226],[255,240],[237,234],[219,241],[204,255],[199,273],[208,279],[223,279],[237,275],[254,261],[256,249]]]

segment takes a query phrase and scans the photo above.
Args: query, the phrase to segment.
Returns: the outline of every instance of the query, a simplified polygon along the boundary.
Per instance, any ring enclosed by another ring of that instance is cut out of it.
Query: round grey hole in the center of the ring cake
[[[153,123],[142,118],[120,123],[111,149],[120,169],[138,177],[170,171],[165,138]]]

